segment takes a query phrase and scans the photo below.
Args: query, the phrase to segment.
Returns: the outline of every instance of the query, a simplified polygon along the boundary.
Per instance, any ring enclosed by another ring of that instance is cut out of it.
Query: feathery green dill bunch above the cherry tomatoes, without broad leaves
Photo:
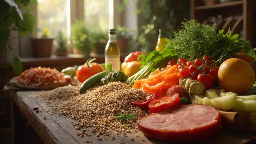
[[[215,24],[202,25],[197,20],[182,22],[182,29],[174,32],[175,38],[171,45],[185,59],[194,60],[199,54],[218,59],[218,37],[215,30]]]

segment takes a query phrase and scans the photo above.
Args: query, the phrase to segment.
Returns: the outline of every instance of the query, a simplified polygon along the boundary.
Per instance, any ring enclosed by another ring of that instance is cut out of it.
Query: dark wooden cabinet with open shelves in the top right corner
[[[222,17],[218,18],[218,17]],[[227,3],[205,5],[202,0],[190,0],[190,18],[209,24],[209,18],[217,18],[217,30],[228,28],[231,34],[240,34],[242,39],[250,41],[256,47],[256,1],[239,0]]]

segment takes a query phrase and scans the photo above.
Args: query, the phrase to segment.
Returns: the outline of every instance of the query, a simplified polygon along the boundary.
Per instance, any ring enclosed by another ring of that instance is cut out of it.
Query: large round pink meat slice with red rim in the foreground
[[[159,113],[141,117],[138,128],[157,140],[190,142],[207,139],[222,129],[220,112],[208,105],[179,105]]]

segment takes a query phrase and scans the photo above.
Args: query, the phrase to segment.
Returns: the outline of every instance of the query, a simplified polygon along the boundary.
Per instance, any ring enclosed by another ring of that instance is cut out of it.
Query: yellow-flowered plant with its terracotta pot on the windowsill
[[[42,29],[41,38],[32,38],[31,43],[33,46],[35,57],[50,57],[52,50],[52,42],[54,39],[49,38],[50,30],[48,28]]]

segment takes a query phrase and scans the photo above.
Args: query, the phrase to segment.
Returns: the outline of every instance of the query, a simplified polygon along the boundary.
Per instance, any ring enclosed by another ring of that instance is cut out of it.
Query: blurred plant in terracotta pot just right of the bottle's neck
[[[131,29],[125,26],[116,26],[116,42],[119,46],[120,53],[125,53],[128,45],[128,40],[130,37]]]

